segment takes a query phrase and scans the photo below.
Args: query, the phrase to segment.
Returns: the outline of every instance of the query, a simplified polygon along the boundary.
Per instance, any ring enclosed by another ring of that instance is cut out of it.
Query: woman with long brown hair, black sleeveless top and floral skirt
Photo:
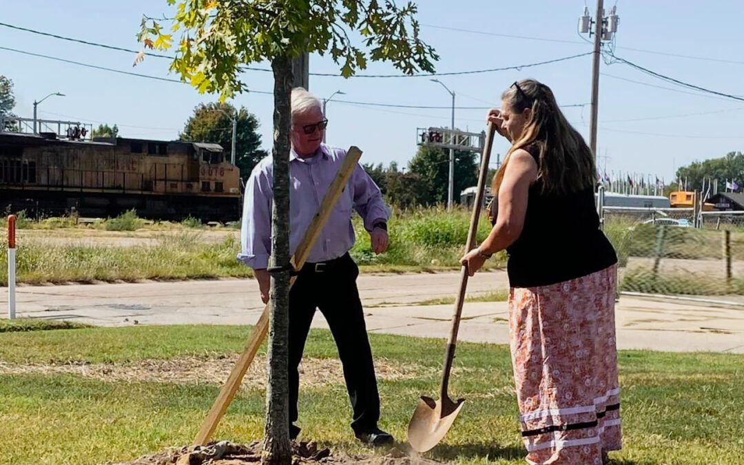
[[[522,439],[530,464],[602,464],[618,450],[617,257],[599,228],[597,170],[553,92],[514,83],[489,121],[512,143],[493,179],[493,229],[462,263],[506,249]]]

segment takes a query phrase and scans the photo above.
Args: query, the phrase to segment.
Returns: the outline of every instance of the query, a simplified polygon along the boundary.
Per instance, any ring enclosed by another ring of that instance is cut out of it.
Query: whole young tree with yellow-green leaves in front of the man
[[[199,92],[219,92],[222,101],[246,89],[244,66],[268,60],[274,72],[274,169],[269,384],[263,461],[289,464],[287,331],[289,314],[289,129],[292,58],[330,54],[350,77],[367,57],[391,62],[405,73],[432,72],[434,49],[419,37],[417,7],[377,0],[167,0],[176,5],[173,25],[145,17],[138,39],[167,49],[181,31],[170,69]],[[365,52],[352,42],[359,37]]]

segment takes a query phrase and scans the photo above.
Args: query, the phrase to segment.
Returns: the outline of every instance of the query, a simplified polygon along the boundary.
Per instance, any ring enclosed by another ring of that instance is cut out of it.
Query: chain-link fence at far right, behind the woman
[[[618,252],[620,292],[744,302],[744,211],[604,207],[602,216]]]

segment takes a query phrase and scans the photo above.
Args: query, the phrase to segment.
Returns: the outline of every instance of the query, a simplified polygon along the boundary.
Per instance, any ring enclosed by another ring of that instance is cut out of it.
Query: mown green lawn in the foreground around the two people
[[[248,327],[234,326],[0,333],[0,464],[101,464],[189,443],[224,379],[215,364],[231,367],[225,356],[241,350],[247,334]],[[445,344],[377,334],[371,341],[382,378],[380,426],[404,438],[418,397],[437,397]],[[318,382],[301,388],[301,439],[369,453],[348,427],[350,406],[330,333],[313,330],[306,356],[304,379]],[[148,379],[158,363],[185,359],[203,362],[192,366],[197,379]],[[743,362],[740,355],[620,353],[625,448],[618,463],[742,463]],[[49,367],[73,370],[45,371]],[[127,367],[144,369],[125,380],[112,376]],[[248,373],[217,438],[261,437],[261,378]],[[429,458],[524,463],[506,346],[460,344],[450,392],[467,402]]]

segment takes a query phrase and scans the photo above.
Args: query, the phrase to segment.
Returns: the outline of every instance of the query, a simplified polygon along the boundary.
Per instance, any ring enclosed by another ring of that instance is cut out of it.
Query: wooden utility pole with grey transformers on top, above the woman
[[[617,7],[612,7],[609,16],[604,16],[604,1],[597,0],[597,11],[595,13],[594,25],[594,53],[591,62],[591,120],[589,121],[589,148],[597,161],[597,115],[600,94],[600,59],[602,57],[602,42],[612,40],[612,36],[618,31],[620,16],[617,15]],[[584,15],[579,19],[579,32],[589,33],[591,36],[592,20],[589,16],[589,8],[584,7]]]

